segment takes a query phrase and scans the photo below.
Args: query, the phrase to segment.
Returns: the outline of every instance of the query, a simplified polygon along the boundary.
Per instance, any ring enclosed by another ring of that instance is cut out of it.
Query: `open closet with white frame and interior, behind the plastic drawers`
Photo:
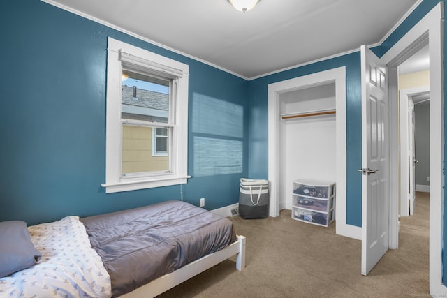
[[[345,68],[269,85],[270,216],[292,209],[293,181],[335,182],[336,232],[358,239],[346,226]]]

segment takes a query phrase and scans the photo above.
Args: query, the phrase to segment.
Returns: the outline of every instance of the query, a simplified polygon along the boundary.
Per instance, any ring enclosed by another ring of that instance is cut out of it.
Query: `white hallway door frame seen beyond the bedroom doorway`
[[[422,94],[430,91],[430,86],[414,87],[400,90],[400,144],[408,144],[409,142],[409,125],[408,125],[408,105],[409,98],[416,94]],[[404,146],[400,146],[400,216],[409,216],[409,200],[408,200],[408,154]]]

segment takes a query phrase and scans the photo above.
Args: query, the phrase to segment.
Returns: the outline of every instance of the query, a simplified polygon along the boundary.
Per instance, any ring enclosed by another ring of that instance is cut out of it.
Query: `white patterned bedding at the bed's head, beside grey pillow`
[[[28,228],[42,253],[29,269],[0,278],[0,297],[110,297],[110,276],[78,216]]]

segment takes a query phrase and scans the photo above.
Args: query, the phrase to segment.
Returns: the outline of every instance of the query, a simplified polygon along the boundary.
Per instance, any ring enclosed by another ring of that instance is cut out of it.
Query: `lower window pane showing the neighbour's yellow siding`
[[[166,128],[164,128],[166,129]],[[164,142],[163,156],[152,154],[152,132],[149,126],[123,126],[122,136],[122,174],[141,172],[169,172],[168,137],[161,137]],[[161,144],[163,144],[161,142]],[[156,147],[159,146],[157,140]]]

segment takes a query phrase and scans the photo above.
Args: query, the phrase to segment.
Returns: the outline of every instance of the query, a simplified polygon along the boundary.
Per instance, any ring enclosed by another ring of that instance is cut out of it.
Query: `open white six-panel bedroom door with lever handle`
[[[386,65],[365,45],[362,62],[362,274],[388,251],[389,152]]]

